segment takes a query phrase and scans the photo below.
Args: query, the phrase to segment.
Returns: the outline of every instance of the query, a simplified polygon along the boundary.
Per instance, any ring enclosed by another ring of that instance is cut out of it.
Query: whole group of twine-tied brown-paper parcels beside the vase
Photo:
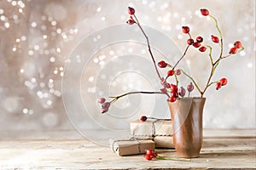
[[[148,118],[131,122],[131,137],[110,139],[110,148],[119,156],[143,154],[154,148],[173,148],[172,121]]]

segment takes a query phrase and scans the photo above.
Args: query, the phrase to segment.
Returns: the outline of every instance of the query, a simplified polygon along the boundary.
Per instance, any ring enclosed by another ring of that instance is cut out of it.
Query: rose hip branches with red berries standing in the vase
[[[224,55],[223,54],[223,51],[224,51],[223,35],[219,29],[218,20],[214,16],[212,16],[212,14],[209,13],[207,8],[201,8],[201,14],[203,16],[210,17],[214,21],[215,27],[218,30],[218,36],[211,35],[212,42],[218,43],[218,45],[219,45],[219,55],[218,55],[217,59],[214,60],[214,58],[212,57],[212,46],[202,43],[204,40],[203,37],[198,36],[194,39],[190,34],[189,26],[182,26],[183,33],[187,34],[189,36],[189,38],[187,40],[188,46],[185,48],[182,56],[177,60],[175,65],[168,64],[164,60],[161,60],[160,62],[158,62],[156,64],[156,61],[154,59],[154,54],[150,47],[149,38],[148,38],[146,32],[143,30],[143,26],[141,26],[139,20],[137,19],[137,16],[135,14],[135,9],[128,7],[128,14],[130,14],[130,19],[127,20],[126,23],[129,25],[134,25],[134,24],[137,25],[139,27],[140,31],[142,31],[143,36],[146,38],[147,45],[148,45],[148,53],[150,54],[150,57],[153,61],[154,70],[155,70],[158,78],[160,79],[160,85],[163,88],[160,88],[159,92],[144,92],[144,91],[129,92],[129,93],[122,94],[122,95],[119,95],[116,97],[110,97],[110,98],[112,98],[112,100],[110,100],[108,102],[106,102],[106,99],[101,98],[101,99],[99,99],[98,103],[100,103],[102,105],[102,113],[107,112],[110,105],[113,104],[113,102],[115,102],[119,98],[122,98],[129,94],[165,94],[168,98],[167,101],[175,102],[178,98],[183,98],[186,94],[185,88],[183,88],[183,87],[178,88],[178,76],[181,75],[182,73],[183,73],[183,75],[185,75],[186,77],[188,77],[191,80],[191,82],[189,82],[189,85],[187,86],[188,97],[190,96],[190,93],[194,90],[194,88],[196,88],[197,91],[201,94],[201,98],[202,98],[204,96],[204,94],[206,93],[207,88],[211,87],[213,84],[216,85],[216,89],[218,90],[219,88],[222,88],[223,86],[225,86],[228,82],[227,79],[224,77],[217,81],[212,82],[212,76],[214,75],[214,72],[216,71],[216,68],[218,67],[219,62],[222,59],[229,58],[231,55],[237,54],[237,53],[241,52],[242,50],[244,50],[244,47],[242,46],[241,42],[236,41],[236,42],[234,42],[234,47],[230,48],[229,54]],[[211,63],[211,71],[210,71],[209,77],[207,79],[205,88],[202,88],[202,89],[198,86],[197,82],[195,82],[195,79],[193,77],[189,76],[189,74],[186,73],[185,71],[183,71],[183,69],[177,68],[178,64],[185,57],[185,55],[187,54],[187,52],[189,51],[189,48],[191,46],[193,46],[194,48],[198,48],[201,53],[205,53],[207,51],[207,49],[209,50],[208,56],[209,56],[210,63]],[[160,75],[160,71],[158,70],[158,67],[159,68],[170,67],[170,70],[167,71],[166,77],[162,77]],[[170,84],[169,82],[167,82],[167,79],[169,77],[174,77],[176,84],[172,84],[172,83]]]

